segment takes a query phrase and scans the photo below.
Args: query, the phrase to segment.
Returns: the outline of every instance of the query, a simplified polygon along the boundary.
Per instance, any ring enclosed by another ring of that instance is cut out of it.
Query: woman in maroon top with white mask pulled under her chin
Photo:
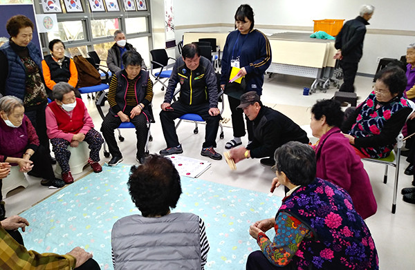
[[[55,178],[46,149],[39,144],[35,128],[26,115],[21,99],[6,96],[0,99],[0,162],[19,166],[43,178],[43,186],[60,188],[65,183]],[[1,200],[1,180],[0,180]],[[0,217],[1,218],[1,217]]]

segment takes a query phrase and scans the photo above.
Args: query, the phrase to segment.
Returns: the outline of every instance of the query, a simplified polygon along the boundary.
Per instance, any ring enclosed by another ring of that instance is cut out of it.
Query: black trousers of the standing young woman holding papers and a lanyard
[[[233,128],[233,135],[234,137],[243,137],[245,136],[245,123],[243,122],[243,110],[237,108],[241,101],[239,99],[235,99],[228,95],[228,101],[230,106],[230,111],[232,113],[232,128]],[[245,117],[246,119],[246,129],[248,130],[248,139],[250,141],[254,140],[254,132],[252,129],[252,122]]]

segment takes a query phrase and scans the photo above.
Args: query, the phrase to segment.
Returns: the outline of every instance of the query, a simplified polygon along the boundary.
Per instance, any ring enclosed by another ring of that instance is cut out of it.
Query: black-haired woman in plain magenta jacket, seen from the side
[[[343,118],[340,102],[335,99],[320,100],[311,108],[311,131],[319,138],[313,146],[316,176],[346,189],[356,211],[366,219],[376,213],[378,206],[360,157],[340,132]]]

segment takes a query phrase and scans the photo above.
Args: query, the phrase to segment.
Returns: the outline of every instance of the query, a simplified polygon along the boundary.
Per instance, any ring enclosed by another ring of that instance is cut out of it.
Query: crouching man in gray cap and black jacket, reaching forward
[[[257,92],[245,93],[240,99],[241,104],[237,108],[242,109],[253,122],[254,139],[246,148],[241,146],[230,150],[230,157],[235,163],[249,157],[265,157],[261,159],[261,164],[273,166],[273,155],[279,146],[290,141],[308,144],[307,133],[286,115],[264,106]]]

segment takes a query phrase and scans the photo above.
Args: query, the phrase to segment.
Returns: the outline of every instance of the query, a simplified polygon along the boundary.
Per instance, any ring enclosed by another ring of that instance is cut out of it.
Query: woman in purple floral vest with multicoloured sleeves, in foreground
[[[288,142],[275,151],[271,191],[288,188],[275,218],[255,222],[249,233],[260,251],[246,269],[379,269],[369,228],[347,191],[315,177],[315,153],[307,144]],[[271,241],[265,234],[275,229]]]

